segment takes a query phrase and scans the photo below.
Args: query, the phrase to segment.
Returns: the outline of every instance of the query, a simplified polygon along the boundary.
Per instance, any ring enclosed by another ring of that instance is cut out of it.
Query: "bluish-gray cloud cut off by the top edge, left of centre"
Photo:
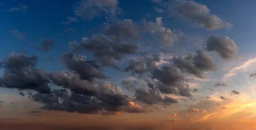
[[[105,14],[109,19],[114,19],[117,14],[121,13],[118,0],[80,0],[74,7],[75,15],[84,20],[91,20],[102,14]]]

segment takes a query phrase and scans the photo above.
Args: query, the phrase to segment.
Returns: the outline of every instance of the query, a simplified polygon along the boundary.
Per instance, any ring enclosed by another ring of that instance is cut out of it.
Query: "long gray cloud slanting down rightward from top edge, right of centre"
[[[211,14],[206,5],[192,0],[172,0],[172,3],[167,6],[169,6],[169,14],[175,14],[185,20],[193,21],[200,27],[207,28],[207,30],[230,29],[232,27],[231,23]]]

